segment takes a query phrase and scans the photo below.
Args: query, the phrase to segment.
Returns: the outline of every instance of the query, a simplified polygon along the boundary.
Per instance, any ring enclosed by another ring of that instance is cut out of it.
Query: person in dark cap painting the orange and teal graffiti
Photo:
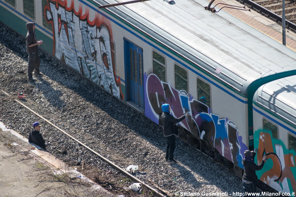
[[[242,186],[244,191],[247,192],[247,196],[254,196],[250,193],[256,192],[257,187],[257,175],[256,170],[261,170],[263,168],[264,162],[266,160],[266,155],[263,156],[262,161],[259,165],[255,164],[254,158],[257,152],[257,148],[254,151],[246,150],[244,152],[244,159],[242,164],[244,166],[244,175],[242,176]]]

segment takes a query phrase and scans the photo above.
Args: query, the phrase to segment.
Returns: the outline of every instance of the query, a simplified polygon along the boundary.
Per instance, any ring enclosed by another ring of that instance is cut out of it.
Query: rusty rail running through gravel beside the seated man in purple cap
[[[4,92],[2,90],[2,92]],[[10,97],[10,95],[6,92],[4,92],[4,94],[6,94],[7,96]],[[105,158],[104,156],[102,156],[101,154],[99,154],[98,152],[94,151],[93,149],[91,149],[90,147],[86,146],[85,144],[83,144],[81,141],[79,141],[78,139],[74,138],[73,136],[71,136],[69,133],[63,131],[61,128],[57,127],[56,125],[54,125],[53,123],[51,123],[49,120],[47,120],[46,118],[42,117],[40,114],[38,114],[37,112],[35,112],[34,110],[32,110],[31,108],[29,108],[28,106],[26,106],[25,104],[23,104],[22,102],[20,102],[19,100],[15,99],[16,102],[18,102],[19,104],[21,104],[23,107],[25,107],[26,109],[28,109],[29,111],[31,111],[32,113],[34,113],[35,115],[37,115],[39,118],[43,119],[44,121],[46,121],[47,123],[49,123],[51,126],[53,126],[54,128],[58,129],[59,131],[61,131],[62,133],[66,134],[67,136],[69,136],[70,138],[72,138],[73,140],[75,140],[76,142],[78,142],[79,144],[81,144],[81,146],[85,147],[86,149],[88,149],[89,151],[91,151],[92,153],[94,153],[95,155],[97,155],[98,157],[100,157],[103,161],[107,162],[109,165],[111,165],[113,168],[115,168],[115,170],[120,171],[122,174],[128,176],[129,178],[131,178],[133,181],[136,181],[137,183],[141,183],[142,185],[144,185],[144,187],[146,187],[147,189],[155,192],[154,195],[157,196],[161,196],[161,197],[166,197],[163,193],[164,190],[161,189],[161,191],[158,191],[154,188],[152,188],[151,186],[147,185],[146,183],[142,182],[140,179],[134,177],[133,175],[131,175],[130,173],[128,173],[126,170],[122,169],[121,167],[119,167],[118,165],[116,165],[115,163],[111,162],[109,159]],[[166,195],[170,195],[169,192],[165,193]]]

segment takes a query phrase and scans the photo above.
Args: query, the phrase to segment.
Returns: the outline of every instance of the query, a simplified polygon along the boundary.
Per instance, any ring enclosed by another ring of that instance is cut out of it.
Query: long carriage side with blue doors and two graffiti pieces
[[[185,58],[188,54],[172,44],[178,39],[168,43],[169,39],[159,40],[150,29],[146,34],[137,30],[130,24],[139,23],[137,14],[124,7],[122,11],[131,12],[133,18],[122,13],[120,18],[114,12],[99,10],[92,1],[78,0],[31,4],[1,0],[1,11],[1,21],[23,36],[25,23],[35,22],[36,35],[44,40],[42,48],[152,121],[159,123],[164,102],[170,103],[175,116],[189,111],[190,117],[180,124],[185,128],[184,140],[192,140],[191,135],[202,139],[242,167],[242,152],[248,143],[244,132],[247,101],[238,88],[229,85],[227,77],[217,80],[215,69],[210,73],[203,69],[210,68],[207,62],[214,68],[220,64]]]

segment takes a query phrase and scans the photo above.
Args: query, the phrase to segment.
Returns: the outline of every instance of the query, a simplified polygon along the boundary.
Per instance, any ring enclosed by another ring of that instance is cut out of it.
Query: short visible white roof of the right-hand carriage
[[[268,113],[296,128],[296,76],[278,79],[261,86],[253,102]]]

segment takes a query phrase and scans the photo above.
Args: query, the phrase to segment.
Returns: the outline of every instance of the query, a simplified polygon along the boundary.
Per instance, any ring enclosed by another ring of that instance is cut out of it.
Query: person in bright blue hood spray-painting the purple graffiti
[[[174,123],[178,123],[184,120],[184,118],[189,115],[189,112],[187,112],[180,118],[175,118],[172,115],[170,115],[169,104],[161,105],[161,109],[163,110],[163,114],[161,115],[161,121],[163,123],[163,135],[165,136],[165,139],[167,141],[165,160],[169,163],[175,164],[177,162],[173,159],[175,150]]]

